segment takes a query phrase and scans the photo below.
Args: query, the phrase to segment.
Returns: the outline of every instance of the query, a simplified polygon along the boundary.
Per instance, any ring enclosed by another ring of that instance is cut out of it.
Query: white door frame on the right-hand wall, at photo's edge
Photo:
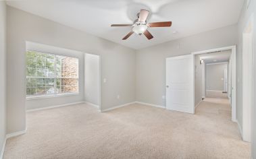
[[[251,141],[254,67],[254,18],[251,14],[242,32],[242,139]]]

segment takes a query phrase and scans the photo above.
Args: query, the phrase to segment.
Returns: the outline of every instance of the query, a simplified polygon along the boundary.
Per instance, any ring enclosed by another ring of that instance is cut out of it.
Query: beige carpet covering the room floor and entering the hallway
[[[133,104],[99,113],[86,104],[28,113],[28,131],[4,158],[249,158],[225,99],[195,115]]]

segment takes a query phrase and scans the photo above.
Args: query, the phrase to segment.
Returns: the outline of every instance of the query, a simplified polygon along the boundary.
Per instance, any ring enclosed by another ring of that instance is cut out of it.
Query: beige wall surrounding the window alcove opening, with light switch
[[[7,132],[26,128],[26,41],[101,56],[101,108],[134,102],[135,51],[56,22],[7,7]],[[120,94],[120,99],[117,95]]]

